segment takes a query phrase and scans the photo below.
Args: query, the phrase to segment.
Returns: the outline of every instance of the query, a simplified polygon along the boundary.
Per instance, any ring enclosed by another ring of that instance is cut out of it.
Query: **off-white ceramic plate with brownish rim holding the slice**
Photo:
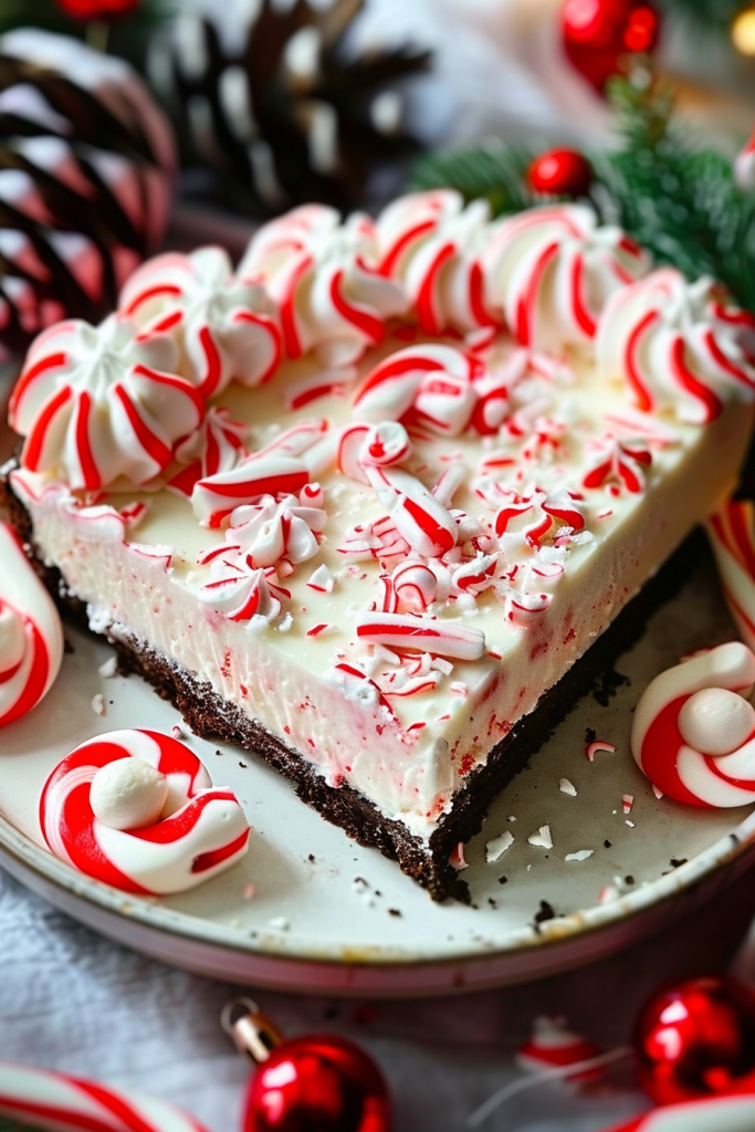
[[[733,636],[713,574],[702,568],[619,661],[629,683],[607,706],[589,696],[498,797],[467,847],[473,904],[434,904],[376,851],[300,803],[290,783],[233,746],[190,738],[252,825],[248,857],[183,895],[123,895],[42,847],[36,805],[58,760],[122,727],[170,730],[177,712],[136,677],[105,679],[110,649],[69,631],[74,646],[45,700],[0,731],[0,851],[14,875],[103,934],[166,962],[259,986],[353,994],[420,994],[524,980],[586,962],[687,911],[750,863],[755,814],[658,800],[628,749],[642,688],[684,652]],[[101,693],[106,712],[95,714]],[[585,729],[616,754],[585,756]],[[576,797],[559,790],[559,779]],[[634,796],[625,815],[621,798]],[[527,837],[549,824],[552,849]],[[514,843],[496,864],[486,842]],[[591,850],[584,860],[567,855]],[[607,885],[616,899],[599,902]],[[254,886],[254,895],[251,887]],[[541,902],[546,901],[546,904]],[[537,923],[548,906],[556,914]]]

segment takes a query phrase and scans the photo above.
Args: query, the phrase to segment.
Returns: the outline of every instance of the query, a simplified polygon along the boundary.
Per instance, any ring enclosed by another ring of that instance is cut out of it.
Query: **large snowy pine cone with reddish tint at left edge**
[[[36,28],[0,37],[0,348],[98,321],[168,223],[174,147],[122,60]]]

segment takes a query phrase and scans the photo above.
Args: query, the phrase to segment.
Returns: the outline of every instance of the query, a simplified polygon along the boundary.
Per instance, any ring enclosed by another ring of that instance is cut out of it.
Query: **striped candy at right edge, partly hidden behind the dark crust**
[[[755,651],[755,504],[728,499],[711,515],[706,530],[723,597],[739,635]]]

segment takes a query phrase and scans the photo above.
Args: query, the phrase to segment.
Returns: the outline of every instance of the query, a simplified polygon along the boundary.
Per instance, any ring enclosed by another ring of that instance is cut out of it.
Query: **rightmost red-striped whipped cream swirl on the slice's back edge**
[[[671,408],[695,424],[755,398],[754,354],[755,318],[710,278],[687,283],[674,267],[615,294],[595,338],[599,368],[625,379],[640,410]]]

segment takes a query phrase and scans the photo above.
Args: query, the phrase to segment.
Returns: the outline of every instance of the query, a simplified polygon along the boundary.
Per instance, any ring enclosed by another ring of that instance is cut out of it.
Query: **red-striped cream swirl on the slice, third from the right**
[[[452,189],[400,197],[378,216],[379,271],[401,280],[426,334],[497,325],[480,264],[489,216],[486,200],[464,207]]]

